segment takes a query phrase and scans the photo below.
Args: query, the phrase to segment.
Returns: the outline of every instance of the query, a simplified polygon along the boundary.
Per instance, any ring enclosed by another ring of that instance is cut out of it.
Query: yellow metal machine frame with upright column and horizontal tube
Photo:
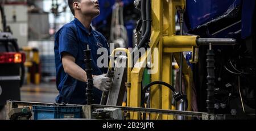
[[[158,72],[151,75],[151,82],[163,81],[172,85],[172,61],[175,58],[177,64],[180,63],[180,53],[185,51],[193,51],[197,47],[196,40],[198,36],[176,36],[175,15],[177,10],[185,9],[185,0],[151,0],[152,7],[152,32],[150,39],[150,47],[158,48],[159,56],[157,60],[152,62],[158,63]],[[141,65],[146,64],[148,55],[144,54],[139,62]],[[151,57],[154,58],[154,57]],[[142,64],[143,63],[143,64]],[[127,93],[127,106],[141,106],[141,82],[144,68],[134,67],[130,74],[131,87]],[[185,87],[188,99],[188,111],[192,109],[192,71],[188,66],[185,58],[183,58],[182,73],[185,79]],[[153,86],[150,92],[150,108],[156,109],[172,109],[171,90],[162,88],[160,85]],[[130,112],[129,119],[141,119],[141,114]],[[174,119],[174,116],[154,115],[151,114],[150,119]]]

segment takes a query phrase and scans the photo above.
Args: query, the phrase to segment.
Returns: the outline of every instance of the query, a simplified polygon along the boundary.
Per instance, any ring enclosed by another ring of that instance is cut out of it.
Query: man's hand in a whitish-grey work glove
[[[106,77],[106,74],[95,75],[93,77],[93,86],[98,88],[101,91],[109,91],[111,84],[111,79]]]

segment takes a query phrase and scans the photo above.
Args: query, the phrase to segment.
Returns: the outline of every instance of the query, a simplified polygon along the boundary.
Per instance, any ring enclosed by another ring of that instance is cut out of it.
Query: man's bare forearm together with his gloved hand
[[[68,53],[63,53],[62,64],[65,73],[69,74],[71,77],[86,82],[87,75],[85,70],[83,70],[79,65],[76,64],[76,59]],[[106,77],[106,75],[94,75],[93,76],[93,86],[101,91],[109,91],[111,79]]]

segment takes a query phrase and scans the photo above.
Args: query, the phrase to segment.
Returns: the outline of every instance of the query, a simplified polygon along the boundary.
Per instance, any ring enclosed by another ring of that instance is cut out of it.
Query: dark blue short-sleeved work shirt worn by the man
[[[65,73],[61,61],[63,53],[71,54],[76,59],[76,64],[85,69],[84,50],[87,45],[91,49],[92,57],[92,74],[101,75],[108,71],[108,68],[99,68],[97,58],[98,48],[107,48],[109,53],[108,42],[105,37],[97,31],[90,28],[86,29],[78,19],[71,23],[65,24],[55,35],[55,66],[56,66],[56,85],[60,94],[56,97],[56,103],[69,104],[86,104],[85,89],[86,83],[81,82]],[[109,55],[109,54],[108,54]],[[99,104],[102,92],[93,88],[94,104]]]

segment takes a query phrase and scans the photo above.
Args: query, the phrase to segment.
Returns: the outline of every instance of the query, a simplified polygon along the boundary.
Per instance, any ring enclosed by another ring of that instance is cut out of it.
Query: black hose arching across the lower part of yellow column
[[[146,94],[146,91],[148,90],[148,88],[150,88],[151,86],[155,85],[155,84],[162,84],[168,88],[170,88],[170,90],[172,92],[174,92],[174,99],[176,102],[179,102],[179,101],[183,101],[183,95],[181,95],[180,92],[176,92],[175,88],[173,86],[171,86],[171,84],[168,84],[166,82],[160,82],[160,81],[155,81],[155,82],[151,82],[150,84],[148,84],[146,87],[143,88],[142,90],[142,98],[141,98],[141,104],[144,104],[145,100],[144,100],[144,96]],[[144,107],[143,105],[141,105],[141,107]]]

